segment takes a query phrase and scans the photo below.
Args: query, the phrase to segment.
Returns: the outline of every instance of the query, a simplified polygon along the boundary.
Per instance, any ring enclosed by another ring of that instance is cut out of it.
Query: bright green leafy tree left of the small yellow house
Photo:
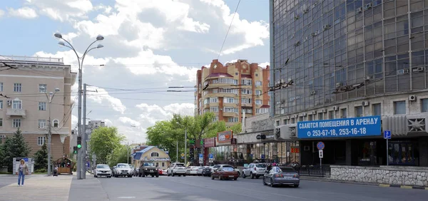
[[[89,141],[91,154],[96,155],[98,163],[107,163],[108,156],[113,153],[113,150],[121,146],[124,139],[125,137],[118,134],[118,129],[115,127],[97,128],[93,130]]]

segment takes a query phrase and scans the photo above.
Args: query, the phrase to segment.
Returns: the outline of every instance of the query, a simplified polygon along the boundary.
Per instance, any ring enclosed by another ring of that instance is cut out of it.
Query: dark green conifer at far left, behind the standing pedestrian
[[[4,158],[3,165],[8,167],[9,172],[12,171],[14,158],[24,158],[29,157],[31,148],[29,144],[26,143],[24,135],[22,135],[21,130],[16,130],[14,135],[11,138],[6,138],[4,142]]]

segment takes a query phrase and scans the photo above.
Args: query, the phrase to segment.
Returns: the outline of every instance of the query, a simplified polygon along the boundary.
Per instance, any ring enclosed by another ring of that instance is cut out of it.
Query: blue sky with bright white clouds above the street
[[[241,0],[16,0],[0,5],[0,55],[63,58],[78,71],[76,55],[59,46],[61,33],[83,54],[96,36],[103,48],[83,63],[87,117],[118,128],[129,143],[146,142],[146,129],[173,113],[194,114],[196,71],[213,59],[269,61],[269,1]],[[232,26],[228,32],[230,22]],[[223,50],[220,52],[228,32]],[[76,100],[72,128],[77,123]],[[187,92],[167,92],[183,86]]]

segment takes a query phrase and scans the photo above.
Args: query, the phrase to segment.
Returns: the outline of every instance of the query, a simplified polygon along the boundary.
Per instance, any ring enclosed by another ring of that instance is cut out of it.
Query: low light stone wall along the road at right
[[[428,187],[428,168],[406,166],[360,167],[331,165],[331,179],[389,185]]]

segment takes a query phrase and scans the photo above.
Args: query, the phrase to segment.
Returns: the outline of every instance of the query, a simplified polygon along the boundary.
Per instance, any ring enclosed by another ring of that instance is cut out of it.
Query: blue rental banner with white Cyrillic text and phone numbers
[[[297,123],[297,138],[380,136],[380,121],[380,116],[301,121]]]

